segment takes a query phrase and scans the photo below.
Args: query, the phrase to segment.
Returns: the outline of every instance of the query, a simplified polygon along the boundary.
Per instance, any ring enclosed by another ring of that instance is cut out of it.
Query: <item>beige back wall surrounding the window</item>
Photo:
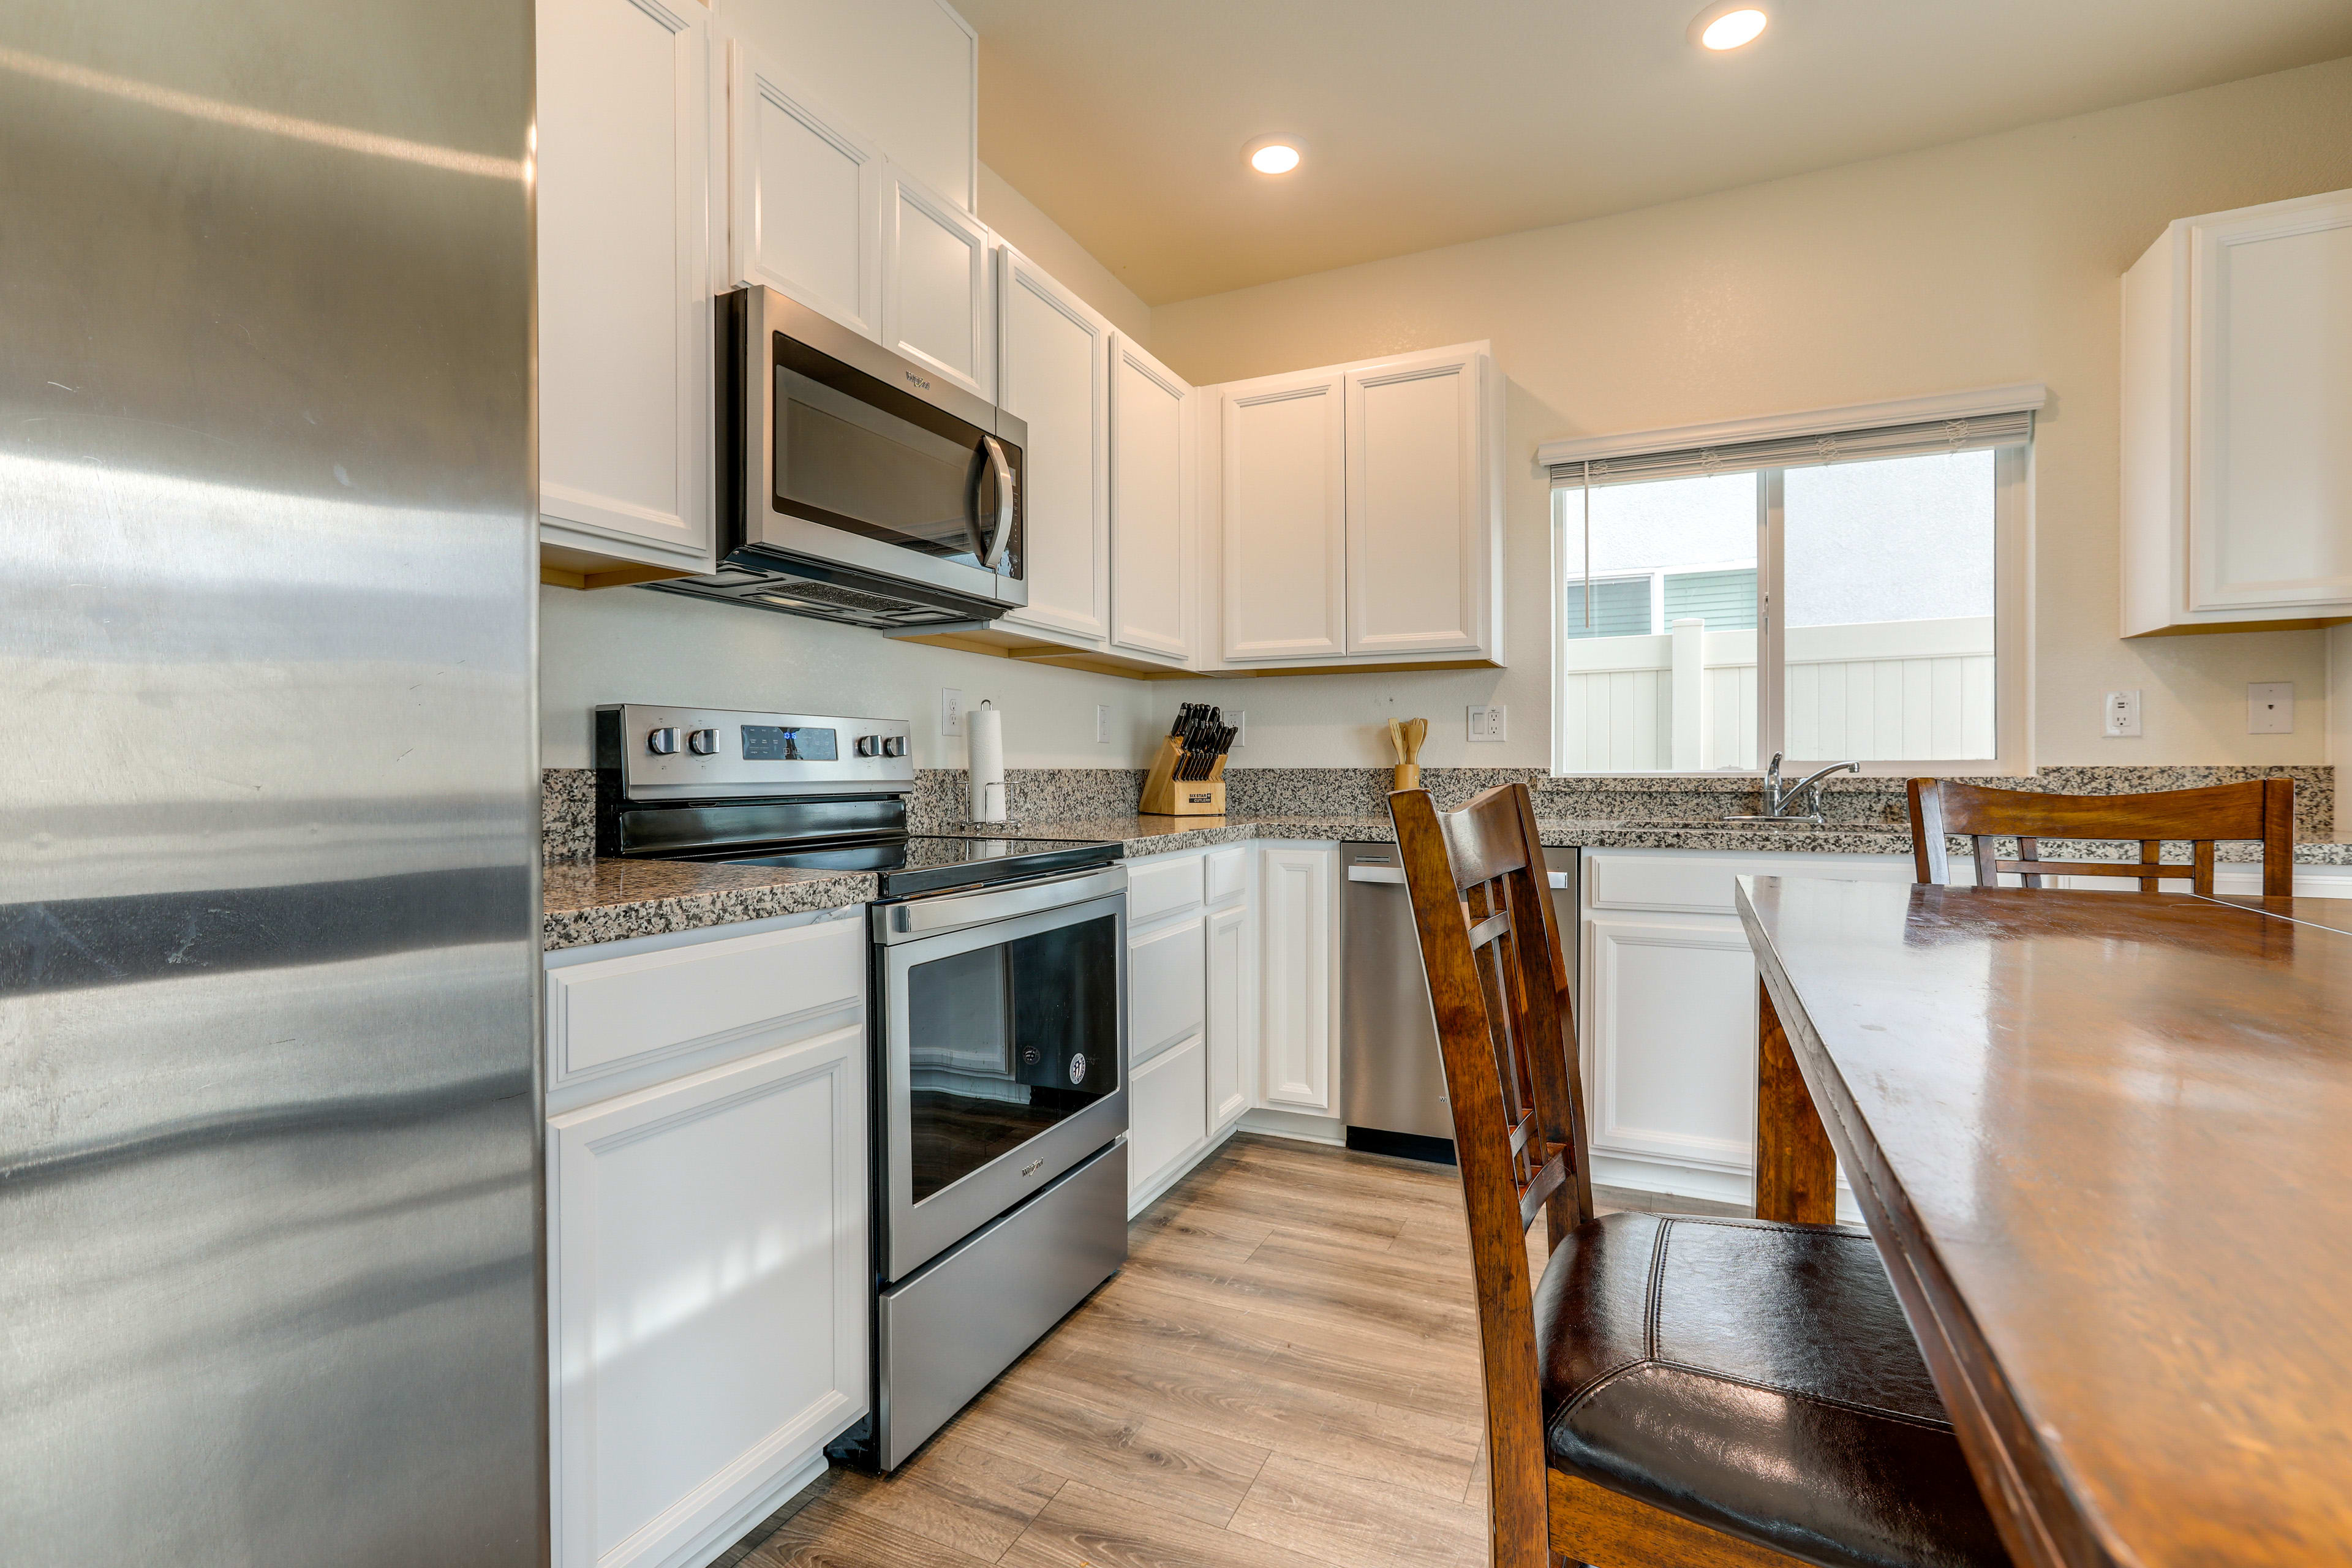
[[[1534,447],[1879,397],[2046,381],[2034,449],[2034,762],[2321,762],[2326,635],[2124,642],[2117,625],[2119,275],[2164,223],[2352,186],[2352,59],[1929,153],[1317,273],[1152,310],[1197,383],[1491,339],[1508,402],[1510,670],[1190,682],[1249,712],[1242,764],[1548,762],[1548,498]],[[1051,261],[1047,263],[1051,266]],[[2343,658],[2338,661],[2343,665]],[[2296,733],[2244,686],[2296,682]],[[2145,693],[2145,738],[2100,693]],[[1510,705],[1468,745],[1463,708]]]

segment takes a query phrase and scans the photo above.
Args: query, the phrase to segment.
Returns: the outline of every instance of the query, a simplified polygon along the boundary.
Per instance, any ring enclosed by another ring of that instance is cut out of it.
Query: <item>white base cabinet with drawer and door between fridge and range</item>
[[[710,1561],[868,1410],[854,914],[548,959],[555,1568]]]

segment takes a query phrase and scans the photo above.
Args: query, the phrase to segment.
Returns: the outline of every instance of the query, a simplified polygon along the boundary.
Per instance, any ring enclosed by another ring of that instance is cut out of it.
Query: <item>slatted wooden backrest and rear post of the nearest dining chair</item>
[[[1569,969],[1536,802],[1524,783],[1439,813],[1388,797],[1430,978],[1430,1011],[1470,1211],[1486,1375],[1496,1568],[1550,1568],[1548,1481],[1526,1229],[1557,1244],[1592,1215]]]

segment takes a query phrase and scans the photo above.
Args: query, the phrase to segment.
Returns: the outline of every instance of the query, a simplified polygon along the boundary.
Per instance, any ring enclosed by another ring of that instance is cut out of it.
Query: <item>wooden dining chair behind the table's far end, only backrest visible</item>
[[[2044,877],[2133,877],[2143,893],[2164,879],[2187,879],[2213,896],[2213,846],[2220,839],[2263,844],[2263,896],[2296,891],[2296,780],[2249,778],[2204,790],[2154,795],[2044,795],[2039,790],[1980,790],[1952,778],[1915,778],[1912,863],[1919,882],[1952,879],[1947,835],[1971,842],[1976,886],[1999,886],[2013,872],[2023,886]],[[2016,839],[2018,858],[2002,860],[1997,839]],[[2133,839],[2138,860],[2044,860],[2042,839]],[[2187,860],[2166,860],[2166,842],[2190,842]],[[2161,870],[2147,870],[2161,867]]]

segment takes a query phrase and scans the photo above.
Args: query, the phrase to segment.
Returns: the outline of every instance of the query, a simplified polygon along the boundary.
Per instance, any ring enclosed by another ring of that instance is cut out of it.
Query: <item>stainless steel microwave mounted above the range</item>
[[[924,628],[1028,604],[1028,425],[776,289],[717,301],[717,571],[647,583]]]

